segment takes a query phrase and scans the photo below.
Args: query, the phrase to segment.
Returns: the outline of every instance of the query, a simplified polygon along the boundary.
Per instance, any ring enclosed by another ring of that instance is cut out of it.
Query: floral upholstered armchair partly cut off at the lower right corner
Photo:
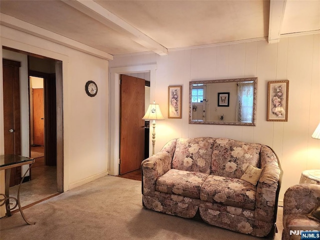
[[[289,187],[283,198],[282,240],[301,239],[300,231],[320,230],[320,185]]]

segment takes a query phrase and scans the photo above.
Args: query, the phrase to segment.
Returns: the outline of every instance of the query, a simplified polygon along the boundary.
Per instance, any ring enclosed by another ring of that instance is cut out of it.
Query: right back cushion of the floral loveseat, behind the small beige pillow
[[[261,144],[217,138],[213,145],[211,174],[240,178],[248,165],[260,167]]]

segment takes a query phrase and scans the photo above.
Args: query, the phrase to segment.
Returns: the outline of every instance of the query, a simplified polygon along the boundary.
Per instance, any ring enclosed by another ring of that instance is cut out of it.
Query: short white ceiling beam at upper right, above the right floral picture
[[[268,43],[280,41],[286,0],[270,0]]]

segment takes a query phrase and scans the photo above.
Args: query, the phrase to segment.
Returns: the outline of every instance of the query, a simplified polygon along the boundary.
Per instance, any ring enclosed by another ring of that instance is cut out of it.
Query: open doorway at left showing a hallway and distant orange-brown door
[[[28,56],[31,180],[45,182],[42,194],[58,192],[56,168],[55,61]]]

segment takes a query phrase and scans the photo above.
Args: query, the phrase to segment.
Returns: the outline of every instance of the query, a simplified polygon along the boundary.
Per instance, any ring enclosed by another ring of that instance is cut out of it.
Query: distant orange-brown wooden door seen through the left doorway
[[[43,88],[32,89],[33,102],[33,144],[43,146],[44,141],[44,105]]]

